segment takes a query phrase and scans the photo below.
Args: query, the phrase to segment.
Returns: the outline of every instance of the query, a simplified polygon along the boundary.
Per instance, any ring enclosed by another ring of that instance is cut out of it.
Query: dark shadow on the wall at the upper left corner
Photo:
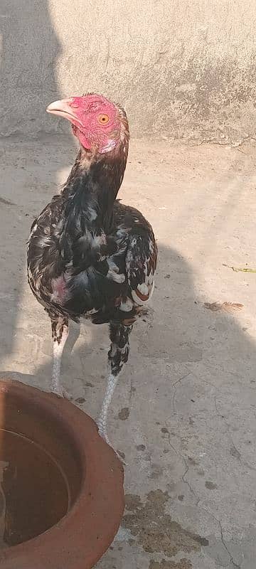
[[[44,116],[60,95],[55,68],[61,46],[48,1],[1,0],[0,38],[0,134],[40,132],[42,119],[56,129]]]

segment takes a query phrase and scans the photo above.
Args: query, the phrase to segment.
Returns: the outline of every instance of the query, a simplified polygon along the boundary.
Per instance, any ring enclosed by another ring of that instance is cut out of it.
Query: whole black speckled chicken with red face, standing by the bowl
[[[69,319],[109,323],[109,377],[97,422],[107,437],[107,413],[129,356],[129,335],[154,290],[157,248],[151,225],[117,200],[127,163],[129,127],[119,105],[101,95],[53,102],[68,119],[80,151],[59,195],[33,222],[28,283],[48,312],[53,336],[52,390],[65,395],[60,363]]]

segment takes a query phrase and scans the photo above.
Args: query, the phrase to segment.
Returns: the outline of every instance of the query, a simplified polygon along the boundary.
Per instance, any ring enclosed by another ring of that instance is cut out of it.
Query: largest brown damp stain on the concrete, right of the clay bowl
[[[145,503],[137,494],[127,494],[124,527],[129,529],[132,536],[137,537],[139,544],[148,553],[164,553],[173,557],[178,551],[190,553],[200,551],[201,546],[208,546],[206,538],[184,529],[166,514],[165,504],[168,500],[169,494],[160,489],[149,492]],[[168,565],[159,567],[168,569]],[[154,565],[151,569],[154,569]]]

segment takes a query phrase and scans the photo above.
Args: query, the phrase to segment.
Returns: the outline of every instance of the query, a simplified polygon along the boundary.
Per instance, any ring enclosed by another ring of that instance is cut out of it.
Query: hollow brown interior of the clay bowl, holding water
[[[17,413],[18,410],[18,413]],[[58,523],[81,485],[78,453],[63,427],[6,393],[0,430],[0,548],[16,546]]]

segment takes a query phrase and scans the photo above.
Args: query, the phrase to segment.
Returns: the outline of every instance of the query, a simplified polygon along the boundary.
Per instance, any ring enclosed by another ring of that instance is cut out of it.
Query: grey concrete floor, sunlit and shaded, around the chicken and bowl
[[[63,137],[0,141],[0,368],[42,389],[50,325],[26,285],[26,239],[74,156]],[[255,569],[256,275],[223,266],[256,265],[255,159],[250,146],[132,141],[120,196],[154,226],[159,267],[154,311],[134,329],[110,413],[127,511],[97,569]],[[243,307],[204,306],[217,301]],[[64,383],[95,417],[107,327],[78,333]]]

